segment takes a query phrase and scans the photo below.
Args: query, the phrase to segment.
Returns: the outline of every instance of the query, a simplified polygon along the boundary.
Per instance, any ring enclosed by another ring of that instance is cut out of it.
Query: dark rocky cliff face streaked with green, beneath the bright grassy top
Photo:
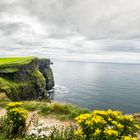
[[[12,100],[44,98],[54,87],[49,59],[30,58],[0,65],[0,92]]]

